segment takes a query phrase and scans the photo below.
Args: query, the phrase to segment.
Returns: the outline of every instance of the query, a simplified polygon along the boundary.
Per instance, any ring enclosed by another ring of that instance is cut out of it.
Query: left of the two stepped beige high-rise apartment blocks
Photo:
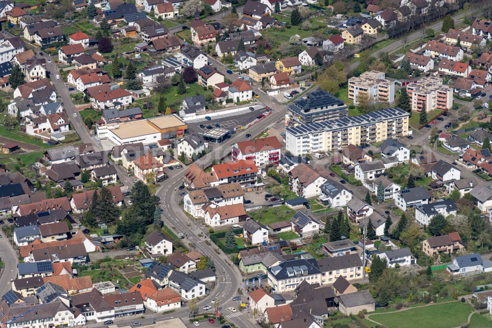
[[[374,102],[391,104],[395,101],[395,80],[386,79],[385,73],[377,70],[351,77],[348,80],[348,98],[357,105],[361,97],[359,95],[363,94]]]

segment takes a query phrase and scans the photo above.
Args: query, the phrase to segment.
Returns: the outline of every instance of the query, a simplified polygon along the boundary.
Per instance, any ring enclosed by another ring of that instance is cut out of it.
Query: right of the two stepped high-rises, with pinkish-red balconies
[[[425,111],[434,109],[450,109],[453,107],[453,89],[442,85],[438,77],[423,77],[417,83],[406,87],[412,111],[420,112],[425,103]]]

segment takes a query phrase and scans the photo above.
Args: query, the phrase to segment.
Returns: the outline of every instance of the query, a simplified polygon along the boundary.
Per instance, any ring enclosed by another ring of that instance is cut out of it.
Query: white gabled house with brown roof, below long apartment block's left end
[[[289,187],[297,196],[310,198],[320,194],[321,186],[328,179],[329,172],[321,167],[299,164],[289,173]]]

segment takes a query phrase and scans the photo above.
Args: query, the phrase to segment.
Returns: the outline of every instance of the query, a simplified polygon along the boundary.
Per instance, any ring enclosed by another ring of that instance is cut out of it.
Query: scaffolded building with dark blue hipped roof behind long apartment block
[[[287,105],[289,124],[299,125],[324,122],[346,117],[347,105],[332,94],[317,90]]]

